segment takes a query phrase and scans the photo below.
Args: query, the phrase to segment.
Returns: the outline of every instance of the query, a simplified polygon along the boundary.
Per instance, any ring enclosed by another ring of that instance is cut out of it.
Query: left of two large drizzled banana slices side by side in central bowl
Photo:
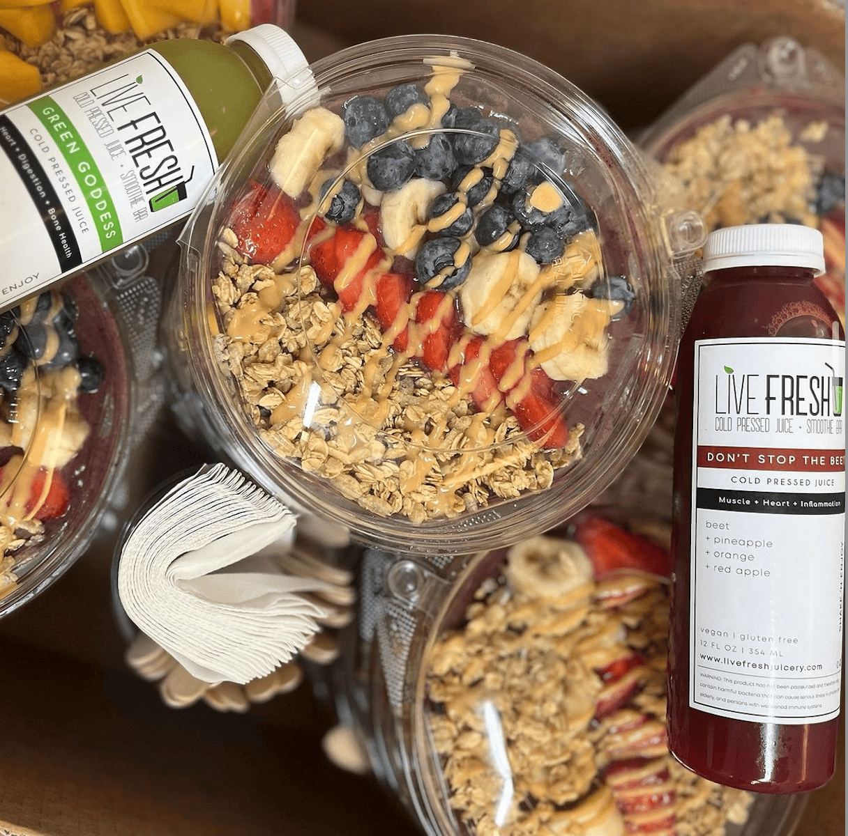
[[[460,287],[468,327],[503,341],[522,336],[544,291],[538,278],[538,264],[523,250],[475,257]]]

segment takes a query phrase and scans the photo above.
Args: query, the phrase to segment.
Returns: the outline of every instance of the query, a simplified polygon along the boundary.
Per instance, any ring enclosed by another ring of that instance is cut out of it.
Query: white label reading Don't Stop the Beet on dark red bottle
[[[840,711],[845,341],[695,342],[689,705]]]

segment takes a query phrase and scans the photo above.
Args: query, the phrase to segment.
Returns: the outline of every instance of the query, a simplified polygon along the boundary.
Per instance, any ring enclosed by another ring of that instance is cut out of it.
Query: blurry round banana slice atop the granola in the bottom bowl
[[[593,579],[592,564],[573,540],[539,535],[506,552],[505,575],[517,592],[532,598],[559,598]]]

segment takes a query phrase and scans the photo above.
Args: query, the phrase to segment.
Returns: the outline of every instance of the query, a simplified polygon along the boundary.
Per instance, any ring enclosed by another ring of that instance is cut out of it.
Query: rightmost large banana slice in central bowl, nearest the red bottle
[[[614,313],[607,299],[560,294],[533,312],[530,348],[555,380],[599,378],[608,368],[606,326]]]

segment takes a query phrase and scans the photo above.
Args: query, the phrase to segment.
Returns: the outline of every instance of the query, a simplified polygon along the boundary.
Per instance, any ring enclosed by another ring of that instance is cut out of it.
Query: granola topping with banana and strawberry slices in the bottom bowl
[[[633,597],[610,606],[622,595]],[[745,822],[749,794],[668,754],[667,629],[659,581],[597,583],[569,540],[508,552],[503,577],[483,582],[427,674],[432,742],[467,832],[718,836]]]

